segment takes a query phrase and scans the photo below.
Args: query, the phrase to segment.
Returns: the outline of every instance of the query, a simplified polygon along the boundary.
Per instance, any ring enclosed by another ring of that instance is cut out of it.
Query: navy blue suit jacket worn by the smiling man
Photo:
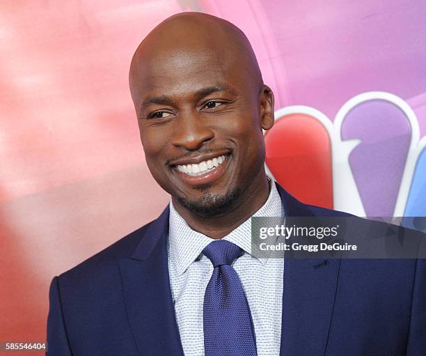
[[[277,187],[286,215],[343,215]],[[168,213],[53,279],[47,355],[183,355]],[[321,261],[285,259],[281,355],[426,355],[425,260]]]

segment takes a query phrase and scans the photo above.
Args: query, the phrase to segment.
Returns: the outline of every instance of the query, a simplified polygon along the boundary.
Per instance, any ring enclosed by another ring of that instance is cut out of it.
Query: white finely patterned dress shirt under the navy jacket
[[[281,197],[274,183],[267,201],[253,216],[283,216]],[[223,239],[244,250],[232,267],[241,280],[250,307],[258,356],[279,355],[284,260],[251,256],[250,218]],[[212,241],[191,229],[170,202],[168,273],[185,356],[204,355],[203,302],[213,265],[202,251]]]

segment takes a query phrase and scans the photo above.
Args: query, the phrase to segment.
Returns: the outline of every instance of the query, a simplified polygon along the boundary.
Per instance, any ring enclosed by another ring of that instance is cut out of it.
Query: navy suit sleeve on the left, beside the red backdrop
[[[63,323],[58,277],[54,277],[52,284],[50,284],[46,356],[72,356],[65,324]]]

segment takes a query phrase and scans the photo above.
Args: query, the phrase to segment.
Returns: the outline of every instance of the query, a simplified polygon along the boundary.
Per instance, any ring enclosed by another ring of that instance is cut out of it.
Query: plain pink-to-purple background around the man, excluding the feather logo
[[[423,1],[3,1],[0,341],[45,340],[52,277],[166,206],[127,73],[143,37],[183,10],[246,33],[276,109],[309,105],[333,118],[358,93],[389,91],[426,134]]]

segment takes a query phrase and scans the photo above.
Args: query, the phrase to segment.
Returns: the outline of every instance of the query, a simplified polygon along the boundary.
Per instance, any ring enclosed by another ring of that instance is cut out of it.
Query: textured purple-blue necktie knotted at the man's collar
[[[205,356],[255,356],[256,343],[246,296],[231,264],[242,253],[237,245],[216,240],[203,249],[214,266],[204,295]]]

